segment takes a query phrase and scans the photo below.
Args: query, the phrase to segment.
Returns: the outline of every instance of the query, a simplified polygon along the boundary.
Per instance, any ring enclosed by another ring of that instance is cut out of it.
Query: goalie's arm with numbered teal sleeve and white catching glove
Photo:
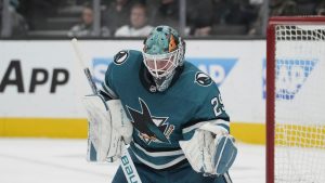
[[[230,135],[230,117],[225,113],[214,82],[200,88],[195,117],[183,125],[180,141],[193,169],[205,174],[223,174],[237,155],[235,140]]]

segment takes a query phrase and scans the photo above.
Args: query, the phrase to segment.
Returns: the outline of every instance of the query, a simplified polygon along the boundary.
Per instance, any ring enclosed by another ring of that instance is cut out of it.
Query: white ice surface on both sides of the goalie
[[[118,162],[87,162],[86,143],[86,140],[0,139],[0,183],[109,183]],[[234,183],[264,183],[264,146],[239,143],[230,174]]]

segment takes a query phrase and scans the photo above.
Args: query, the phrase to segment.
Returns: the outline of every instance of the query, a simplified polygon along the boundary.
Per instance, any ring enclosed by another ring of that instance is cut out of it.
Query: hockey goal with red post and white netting
[[[266,183],[325,182],[325,17],[271,17]]]

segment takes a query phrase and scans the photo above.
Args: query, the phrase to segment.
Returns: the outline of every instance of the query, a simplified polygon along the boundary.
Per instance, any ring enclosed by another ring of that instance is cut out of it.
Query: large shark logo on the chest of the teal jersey
[[[166,122],[169,117],[152,116],[145,102],[139,97],[141,112],[127,106],[134,128],[139,131],[139,138],[146,144],[151,142],[170,143],[169,136],[174,130],[173,125]]]

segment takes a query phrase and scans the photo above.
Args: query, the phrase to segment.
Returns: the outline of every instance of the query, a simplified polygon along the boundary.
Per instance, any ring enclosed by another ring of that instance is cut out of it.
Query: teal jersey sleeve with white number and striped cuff
[[[182,129],[184,140],[190,140],[195,130],[206,122],[222,128],[230,133],[230,117],[224,109],[220,91],[216,83],[210,86],[209,92],[200,101],[193,120],[185,123]]]

